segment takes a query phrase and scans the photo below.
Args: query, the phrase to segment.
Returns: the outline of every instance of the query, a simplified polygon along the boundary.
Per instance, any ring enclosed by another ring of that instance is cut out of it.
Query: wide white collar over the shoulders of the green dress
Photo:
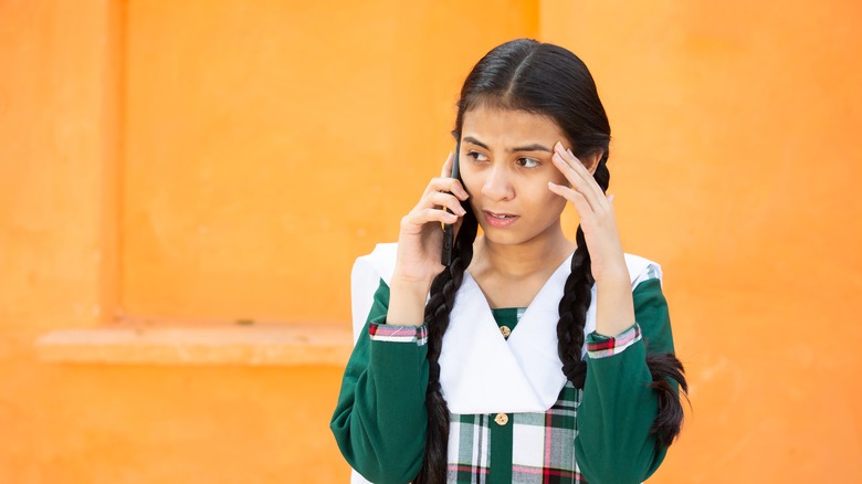
[[[391,280],[396,254],[397,244],[378,244],[356,261],[351,275],[354,338],[365,327],[380,278],[387,284]],[[661,277],[661,269],[652,261],[626,254],[626,263],[632,288],[648,271]],[[452,413],[544,412],[554,406],[566,385],[557,353],[557,322],[570,264],[569,257],[551,274],[508,340],[500,334],[479,284],[464,273],[439,359],[440,383]],[[595,285],[591,293],[585,336],[596,329]]]

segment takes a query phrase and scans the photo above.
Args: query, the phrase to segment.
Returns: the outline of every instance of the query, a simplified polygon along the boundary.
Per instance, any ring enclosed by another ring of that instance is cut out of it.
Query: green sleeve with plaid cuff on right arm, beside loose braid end
[[[648,351],[673,353],[667,303],[659,278],[641,282],[632,296],[632,327],[613,338],[587,336],[575,453],[588,482],[643,482],[667,452],[650,433],[659,400],[646,367]]]

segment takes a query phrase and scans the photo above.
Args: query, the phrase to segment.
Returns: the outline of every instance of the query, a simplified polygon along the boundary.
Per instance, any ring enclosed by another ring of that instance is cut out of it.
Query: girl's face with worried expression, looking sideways
[[[566,200],[548,181],[568,181],[550,158],[557,141],[571,148],[559,126],[523,111],[479,107],[464,114],[461,136],[461,178],[485,239],[522,244],[559,236]]]

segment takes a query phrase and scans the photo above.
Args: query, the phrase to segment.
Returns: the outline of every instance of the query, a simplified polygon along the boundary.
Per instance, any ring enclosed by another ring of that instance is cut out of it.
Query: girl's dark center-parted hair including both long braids
[[[528,39],[509,41],[493,49],[473,67],[461,88],[453,131],[456,138],[461,137],[464,114],[481,106],[518,109],[554,119],[567,136],[576,156],[600,154],[593,177],[602,191],[607,191],[610,182],[607,167],[610,124],[592,76],[575,54],[560,46]],[[446,480],[449,408],[440,391],[438,358],[455,293],[473,259],[477,221],[466,203],[466,215],[455,241],[453,263],[434,278],[425,305],[428,436],[417,483],[433,484]],[[571,274],[566,280],[559,303],[557,350],[566,378],[580,389],[584,388],[587,373],[587,365],[581,359],[584,327],[595,280],[580,227],[576,240],[578,246],[571,257]],[[669,378],[687,390],[682,364],[672,354],[650,355],[646,364],[653,376],[651,387],[659,392],[659,413],[652,432],[660,443],[669,445],[680,432],[683,415],[679,392]]]

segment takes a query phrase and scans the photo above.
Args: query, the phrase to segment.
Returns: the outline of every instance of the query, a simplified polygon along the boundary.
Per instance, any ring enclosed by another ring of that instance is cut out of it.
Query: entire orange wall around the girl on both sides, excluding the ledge
[[[337,366],[56,364],[34,341],[346,327],[353,260],[396,239],[460,83],[516,36],[590,66],[624,245],[665,272],[693,410],[651,482],[862,480],[861,20],[838,0],[0,0],[0,482],[346,482]]]

